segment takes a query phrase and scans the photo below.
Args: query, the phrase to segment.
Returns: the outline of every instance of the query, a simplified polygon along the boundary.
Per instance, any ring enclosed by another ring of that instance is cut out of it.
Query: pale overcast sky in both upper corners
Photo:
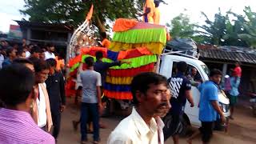
[[[204,18],[201,11],[205,12],[210,19],[218,12],[218,7],[225,13],[227,10],[233,10],[235,13],[242,14],[245,6],[250,6],[256,11],[255,0],[165,0],[168,5],[161,4],[161,24],[170,22],[172,18],[180,13],[186,13],[190,16],[191,22],[202,23]],[[13,20],[21,20],[24,15],[19,10],[23,9],[23,0],[1,0],[0,1],[0,31],[8,32],[10,24],[17,25]],[[186,12],[184,10],[186,9]]]

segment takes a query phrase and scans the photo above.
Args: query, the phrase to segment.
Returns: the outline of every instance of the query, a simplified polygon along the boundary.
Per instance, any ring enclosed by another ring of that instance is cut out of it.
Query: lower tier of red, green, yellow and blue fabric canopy
[[[104,86],[104,95],[108,98],[131,100],[130,83],[134,75],[153,71],[154,63],[157,62],[157,56],[146,47],[120,52],[114,52],[102,47],[91,47],[83,48],[81,55],[70,60],[70,72],[77,70],[87,57],[93,57],[94,61],[96,61],[95,54],[98,50],[103,53],[103,62],[114,62],[116,60],[130,62],[130,64],[124,63],[121,66],[112,66],[108,70]]]

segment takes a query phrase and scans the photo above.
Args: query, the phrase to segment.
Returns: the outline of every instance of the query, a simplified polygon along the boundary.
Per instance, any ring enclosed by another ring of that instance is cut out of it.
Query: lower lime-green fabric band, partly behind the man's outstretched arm
[[[85,59],[87,57],[89,57],[90,55],[83,55],[82,56],[82,63],[85,62]],[[90,56],[92,57],[92,56]],[[96,61],[96,58],[94,58],[94,61]],[[137,58],[129,58],[129,59],[123,59],[122,61],[126,61],[126,62],[130,62],[130,64],[122,64],[121,66],[112,66],[110,67],[110,69],[132,69],[132,68],[138,68],[140,66],[146,66],[152,62],[157,62],[157,56],[156,55],[144,55],[141,57],[137,57]],[[103,62],[113,62],[112,60],[108,59],[108,58],[103,58],[102,59]],[[76,68],[78,68],[80,66],[80,62],[76,63],[74,66],[71,67],[70,72],[74,71]]]

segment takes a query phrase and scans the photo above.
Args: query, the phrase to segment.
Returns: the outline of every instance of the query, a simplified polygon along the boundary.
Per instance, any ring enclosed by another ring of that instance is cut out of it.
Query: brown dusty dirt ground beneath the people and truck
[[[80,143],[79,130],[74,132],[71,121],[79,118],[78,109],[68,99],[65,112],[62,114],[62,129],[58,138],[59,144],[78,144]],[[224,132],[215,132],[211,143],[217,144],[255,144],[256,143],[256,118],[251,114],[251,110],[242,106],[236,108],[234,120],[230,121],[230,129],[228,134]],[[108,135],[121,117],[102,118],[103,122],[108,126],[107,129],[100,131],[102,144],[106,143]],[[196,129],[194,129],[196,130]],[[88,135],[89,140],[92,140],[92,135]],[[90,142],[88,142],[90,143]],[[166,141],[166,144],[173,143],[171,139]],[[180,143],[186,143],[186,138],[181,138]],[[195,144],[201,143],[200,138],[194,140]]]

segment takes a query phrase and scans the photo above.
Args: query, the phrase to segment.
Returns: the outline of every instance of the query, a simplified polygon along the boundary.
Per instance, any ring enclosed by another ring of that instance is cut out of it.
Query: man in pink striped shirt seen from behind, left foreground
[[[34,103],[34,74],[22,64],[0,70],[0,143],[54,144],[54,138],[41,130],[29,111]]]

